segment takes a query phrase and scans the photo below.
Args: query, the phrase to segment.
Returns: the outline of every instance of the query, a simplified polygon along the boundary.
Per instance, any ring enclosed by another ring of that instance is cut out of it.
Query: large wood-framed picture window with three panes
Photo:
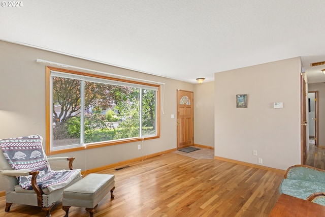
[[[47,152],[158,137],[158,85],[50,67],[47,79]]]

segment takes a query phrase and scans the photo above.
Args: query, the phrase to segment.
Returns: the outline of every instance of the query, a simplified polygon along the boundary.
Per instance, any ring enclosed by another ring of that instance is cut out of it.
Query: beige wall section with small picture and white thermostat
[[[215,73],[215,156],[283,170],[300,163],[300,69],[297,57]],[[247,108],[236,108],[237,94]]]

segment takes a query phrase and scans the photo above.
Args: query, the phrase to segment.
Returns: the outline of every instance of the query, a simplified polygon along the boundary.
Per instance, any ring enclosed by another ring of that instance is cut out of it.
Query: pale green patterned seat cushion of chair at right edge
[[[282,179],[279,192],[306,200],[309,195],[315,192],[325,192],[325,183],[285,178]]]

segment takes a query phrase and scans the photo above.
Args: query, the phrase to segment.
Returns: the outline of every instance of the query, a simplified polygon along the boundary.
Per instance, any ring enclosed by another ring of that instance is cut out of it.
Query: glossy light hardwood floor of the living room
[[[128,164],[115,175],[115,199],[108,194],[94,216],[268,216],[279,198],[283,174],[215,159],[196,159],[175,152]],[[39,207],[13,204],[0,216],[44,216]],[[52,217],[63,216],[61,203]],[[71,207],[69,216],[89,216]]]

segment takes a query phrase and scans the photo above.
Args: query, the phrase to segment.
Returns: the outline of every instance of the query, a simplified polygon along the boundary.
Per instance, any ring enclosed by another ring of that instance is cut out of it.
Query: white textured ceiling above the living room
[[[191,83],[301,56],[309,83],[325,81],[310,67],[325,61],[323,0],[22,3],[0,8],[0,40]]]

